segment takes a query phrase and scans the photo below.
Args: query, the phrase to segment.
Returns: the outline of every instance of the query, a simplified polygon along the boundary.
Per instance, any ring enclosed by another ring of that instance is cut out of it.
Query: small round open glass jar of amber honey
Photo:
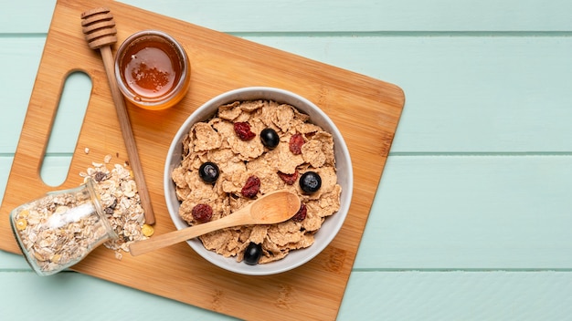
[[[185,49],[162,31],[137,32],[117,50],[117,85],[125,98],[143,109],[175,105],[185,97],[190,77]]]

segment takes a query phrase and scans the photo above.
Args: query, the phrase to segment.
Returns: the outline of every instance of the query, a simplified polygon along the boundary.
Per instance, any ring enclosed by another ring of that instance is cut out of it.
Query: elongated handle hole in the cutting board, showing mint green
[[[74,71],[65,79],[40,169],[40,178],[48,186],[59,186],[68,178],[91,88],[91,78],[84,72]]]

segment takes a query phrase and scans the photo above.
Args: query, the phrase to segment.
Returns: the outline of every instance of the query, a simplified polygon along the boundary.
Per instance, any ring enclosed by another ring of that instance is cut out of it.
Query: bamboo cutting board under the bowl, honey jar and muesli
[[[9,212],[53,190],[40,180],[39,170],[51,120],[70,72],[81,70],[90,75],[93,88],[68,179],[58,189],[77,186],[81,181],[79,172],[90,167],[92,161],[101,162],[105,155],[113,155],[111,162],[126,160],[101,56],[99,51],[90,50],[81,33],[80,14],[98,6],[111,9],[119,43],[136,31],[160,29],[175,36],[190,57],[192,85],[178,106],[164,111],[127,106],[154,206],[156,234],[175,230],[164,202],[163,170],[176,130],[209,98],[234,88],[284,88],[322,108],[341,130],[350,150],[355,192],[348,217],[334,241],[310,263],[291,272],[268,276],[226,272],[207,263],[186,243],[137,257],[123,255],[121,261],[101,247],[73,269],[244,319],[334,319],[403,109],[402,90],[130,5],[58,1],[0,208],[0,248],[19,253],[8,223]],[[89,154],[84,151],[86,147]]]

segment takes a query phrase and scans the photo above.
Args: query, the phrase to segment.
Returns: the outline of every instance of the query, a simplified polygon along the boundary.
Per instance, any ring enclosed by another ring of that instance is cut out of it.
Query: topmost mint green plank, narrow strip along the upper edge
[[[566,0],[337,0],[327,5],[293,0],[272,5],[263,0],[243,1],[241,5],[232,0],[216,3],[201,0],[184,6],[175,0],[124,0],[122,3],[225,32],[572,30],[567,16],[572,4]],[[45,33],[49,26],[48,13],[53,11],[54,5],[54,0],[34,5],[26,1],[5,3],[0,12],[0,30],[3,33]],[[25,18],[11,19],[11,16]]]

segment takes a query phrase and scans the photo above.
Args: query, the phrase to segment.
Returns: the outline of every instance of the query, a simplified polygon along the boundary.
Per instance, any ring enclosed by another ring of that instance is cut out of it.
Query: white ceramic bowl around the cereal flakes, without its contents
[[[178,167],[181,162],[183,152],[182,140],[193,124],[212,117],[221,105],[237,100],[251,99],[270,99],[290,104],[310,115],[310,121],[312,123],[322,127],[334,136],[337,179],[338,183],[342,186],[340,210],[326,218],[320,230],[315,234],[315,243],[310,247],[291,251],[290,254],[286,255],[283,259],[269,264],[249,265],[244,262],[237,262],[234,257],[225,258],[223,255],[208,251],[198,238],[189,240],[187,243],[189,243],[197,254],[207,259],[207,261],[228,271],[250,275],[278,274],[305,264],[317,254],[320,254],[334,239],[336,233],[338,233],[344,224],[352,200],[354,176],[352,161],[350,160],[350,154],[345,145],[344,138],[335,127],[334,122],[308,99],[279,88],[250,87],[231,90],[208,100],[207,103],[196,109],[196,111],[185,120],[185,123],[177,131],[171,143],[164,167],[165,199],[169,214],[176,228],[180,230],[187,227],[187,223],[179,217],[178,210],[180,202],[176,198],[175,183],[171,179],[171,172]]]

